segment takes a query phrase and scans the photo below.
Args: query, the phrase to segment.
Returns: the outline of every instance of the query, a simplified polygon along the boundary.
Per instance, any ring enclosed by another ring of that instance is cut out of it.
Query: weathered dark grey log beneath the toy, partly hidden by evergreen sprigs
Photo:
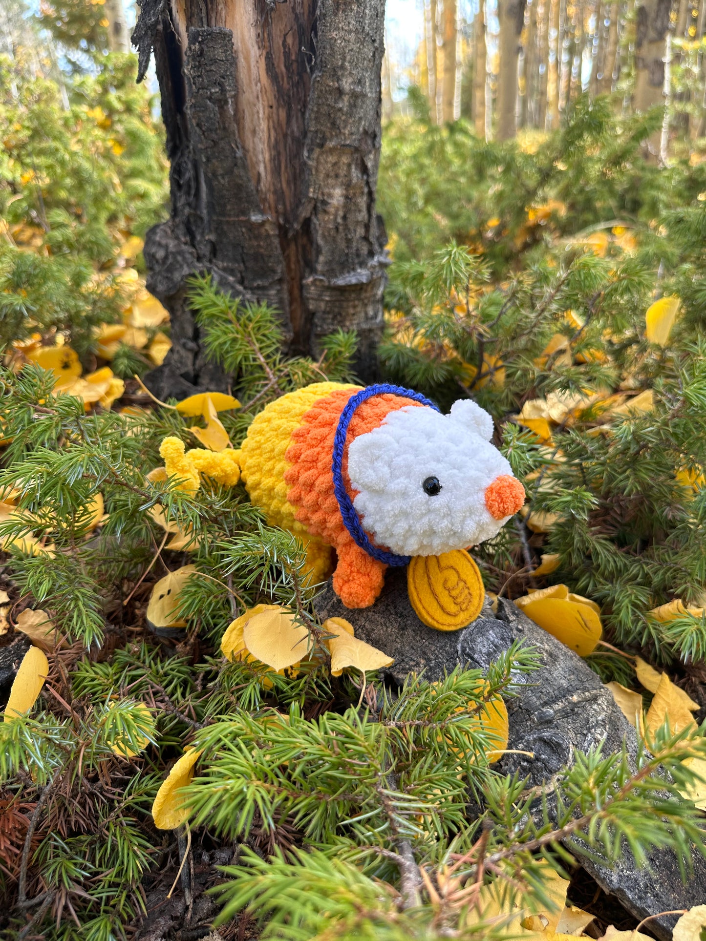
[[[606,753],[616,752],[623,741],[631,751],[637,747],[634,728],[598,676],[511,602],[501,599],[497,617],[484,607],[481,616],[463,630],[432,630],[409,604],[405,572],[390,570],[372,608],[345,608],[330,583],[316,608],[322,618],[345,617],[357,637],[393,657],[393,665],[381,672],[397,686],[410,672],[424,670],[426,678],[437,679],[458,663],[484,669],[518,639],[534,646],[542,665],[524,677],[519,694],[508,699],[507,709],[508,748],[533,752],[535,757],[505,756],[498,766],[504,773],[519,771],[533,784],[541,784],[570,762],[577,749],[587,751],[602,742]],[[666,851],[650,853],[651,869],[635,869],[630,855],[613,869],[586,857],[579,861],[605,892],[638,919],[691,908],[706,898],[706,861],[701,856],[695,856],[688,885],[682,883],[675,854]],[[652,918],[649,929],[668,941],[676,918]]]

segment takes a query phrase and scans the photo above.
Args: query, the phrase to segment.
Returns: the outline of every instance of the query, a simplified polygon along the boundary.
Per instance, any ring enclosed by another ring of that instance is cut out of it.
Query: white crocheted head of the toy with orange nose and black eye
[[[416,406],[390,412],[351,441],[348,474],[359,491],[353,505],[377,545],[439,555],[497,534],[524,492],[489,443],[492,430],[488,412],[462,399],[450,415]]]

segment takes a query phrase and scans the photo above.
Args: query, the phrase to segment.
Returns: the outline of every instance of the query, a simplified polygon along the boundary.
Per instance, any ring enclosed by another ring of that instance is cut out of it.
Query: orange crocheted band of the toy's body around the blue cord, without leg
[[[349,543],[351,536],[345,528],[333,491],[331,455],[341,412],[354,391],[337,390],[320,399],[292,432],[292,443],[285,454],[290,463],[284,473],[284,481],[290,486],[287,501],[296,507],[295,517],[311,534],[320,536],[336,548]],[[356,409],[348,427],[343,461],[344,483],[351,497],[357,491],[351,489],[348,477],[350,442],[358,435],[377,428],[390,412],[414,405],[417,403],[401,395],[385,392],[367,399]]]

